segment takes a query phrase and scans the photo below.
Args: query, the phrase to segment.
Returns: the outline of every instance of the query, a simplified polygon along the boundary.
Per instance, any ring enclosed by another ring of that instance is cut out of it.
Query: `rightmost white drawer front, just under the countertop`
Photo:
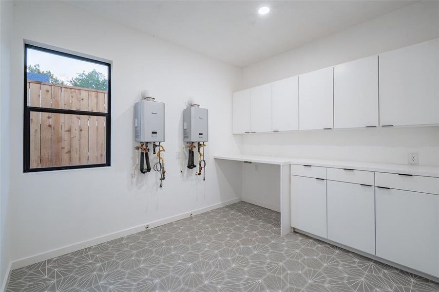
[[[376,172],[375,185],[439,195],[439,178]]]

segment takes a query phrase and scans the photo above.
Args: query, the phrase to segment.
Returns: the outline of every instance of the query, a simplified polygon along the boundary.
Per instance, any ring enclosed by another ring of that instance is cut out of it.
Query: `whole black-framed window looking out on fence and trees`
[[[24,172],[109,166],[110,64],[24,49]]]

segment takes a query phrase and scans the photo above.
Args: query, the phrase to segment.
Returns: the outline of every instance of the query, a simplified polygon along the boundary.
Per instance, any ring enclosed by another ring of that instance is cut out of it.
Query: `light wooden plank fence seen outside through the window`
[[[28,106],[107,112],[107,92],[29,81]],[[106,162],[105,117],[31,111],[30,167]]]

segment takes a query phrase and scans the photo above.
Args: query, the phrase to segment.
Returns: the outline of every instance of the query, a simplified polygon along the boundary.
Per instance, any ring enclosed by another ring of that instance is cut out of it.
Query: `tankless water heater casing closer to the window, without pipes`
[[[135,142],[165,142],[165,104],[148,97],[134,104]]]

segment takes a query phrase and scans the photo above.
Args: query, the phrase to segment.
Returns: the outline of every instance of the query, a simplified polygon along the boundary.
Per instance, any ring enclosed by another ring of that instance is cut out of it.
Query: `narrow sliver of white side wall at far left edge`
[[[0,291],[11,261],[9,193],[9,107],[11,73],[12,1],[0,1]]]

